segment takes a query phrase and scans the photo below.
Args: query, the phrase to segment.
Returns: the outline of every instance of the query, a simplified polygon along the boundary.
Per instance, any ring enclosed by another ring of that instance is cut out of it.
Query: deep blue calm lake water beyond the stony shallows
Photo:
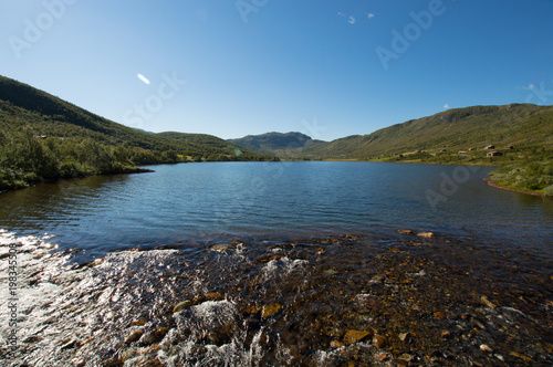
[[[0,195],[0,228],[61,249],[114,250],[227,235],[396,229],[477,237],[550,256],[553,200],[490,188],[491,170],[377,162],[209,162]],[[550,258],[551,259],[551,258]]]

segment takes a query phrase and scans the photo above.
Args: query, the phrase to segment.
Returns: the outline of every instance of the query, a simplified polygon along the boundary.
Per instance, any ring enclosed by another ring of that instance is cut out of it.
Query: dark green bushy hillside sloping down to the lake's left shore
[[[140,132],[0,76],[0,190],[138,165],[270,159],[208,135]]]

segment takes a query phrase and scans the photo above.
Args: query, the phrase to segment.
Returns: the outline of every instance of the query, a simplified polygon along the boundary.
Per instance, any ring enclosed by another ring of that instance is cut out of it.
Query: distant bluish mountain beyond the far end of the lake
[[[243,138],[229,139],[229,141],[252,151],[274,155],[279,157],[291,157],[300,149],[324,145],[324,141],[313,140],[301,133],[267,133],[263,135],[248,135]]]

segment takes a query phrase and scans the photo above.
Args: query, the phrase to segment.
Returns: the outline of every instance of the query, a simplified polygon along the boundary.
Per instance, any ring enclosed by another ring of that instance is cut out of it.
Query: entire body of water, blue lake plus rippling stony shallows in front
[[[0,365],[553,365],[553,200],[490,168],[149,168],[0,195]]]

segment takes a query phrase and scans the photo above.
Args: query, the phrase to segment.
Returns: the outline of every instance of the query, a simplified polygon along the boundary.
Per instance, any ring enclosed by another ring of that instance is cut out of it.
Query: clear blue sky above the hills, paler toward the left
[[[0,7],[0,74],[156,133],[332,140],[446,108],[553,105],[551,0]]]

